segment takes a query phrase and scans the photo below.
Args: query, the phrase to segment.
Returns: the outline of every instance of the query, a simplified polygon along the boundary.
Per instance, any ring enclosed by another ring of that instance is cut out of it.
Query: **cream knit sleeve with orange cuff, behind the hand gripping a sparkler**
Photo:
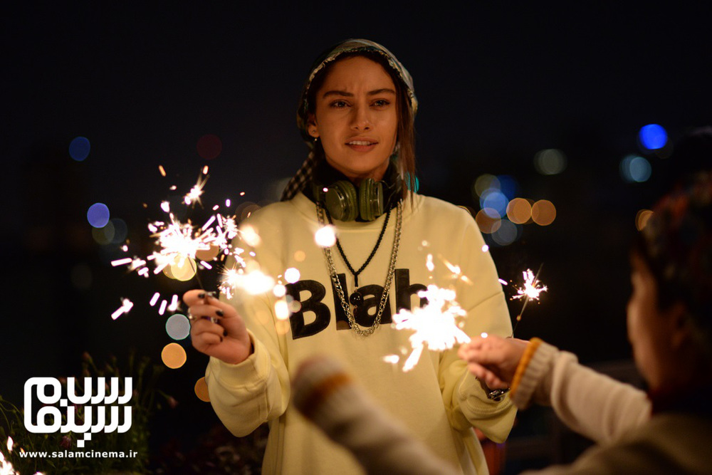
[[[570,429],[596,442],[620,437],[649,420],[651,404],[642,390],[582,366],[572,353],[541,340],[530,342],[527,353],[511,392],[517,407],[550,405]]]

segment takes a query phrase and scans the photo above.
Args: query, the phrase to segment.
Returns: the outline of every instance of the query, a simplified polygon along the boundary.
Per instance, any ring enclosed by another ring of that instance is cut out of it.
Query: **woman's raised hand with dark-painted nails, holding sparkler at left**
[[[252,342],[245,321],[235,308],[210,296],[206,291],[187,291],[190,336],[201,353],[237,364],[252,353]]]

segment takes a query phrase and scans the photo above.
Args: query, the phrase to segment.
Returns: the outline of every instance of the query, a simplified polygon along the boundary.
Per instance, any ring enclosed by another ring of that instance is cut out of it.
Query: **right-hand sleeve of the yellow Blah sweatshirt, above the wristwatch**
[[[464,212],[464,211],[463,211]],[[466,212],[464,212],[466,213]],[[463,330],[470,336],[483,332],[508,337],[512,324],[501,283],[490,254],[475,221],[464,216],[461,234],[461,276],[456,284],[457,301],[466,310]],[[457,348],[442,353],[440,385],[450,423],[459,430],[477,427],[494,442],[503,442],[514,423],[516,408],[509,397],[490,400],[480,382],[467,370]]]

